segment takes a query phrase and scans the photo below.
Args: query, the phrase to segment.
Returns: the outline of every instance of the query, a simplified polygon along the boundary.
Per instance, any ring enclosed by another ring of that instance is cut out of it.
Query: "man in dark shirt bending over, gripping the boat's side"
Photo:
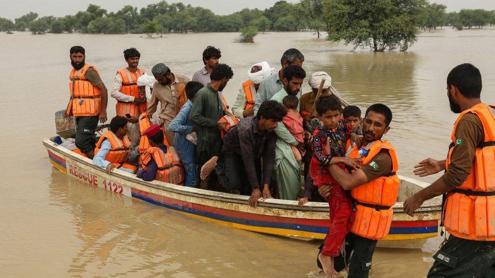
[[[259,198],[271,198],[269,184],[277,141],[274,130],[286,114],[280,103],[263,102],[256,116],[243,118],[225,135],[220,158],[214,156],[206,162],[201,179],[213,171],[218,159],[215,171],[225,191],[251,195],[248,203],[253,207]]]

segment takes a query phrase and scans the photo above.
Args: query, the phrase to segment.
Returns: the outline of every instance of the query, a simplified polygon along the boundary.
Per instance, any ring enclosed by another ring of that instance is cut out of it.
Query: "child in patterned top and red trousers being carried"
[[[313,133],[313,157],[309,174],[315,186],[332,185],[328,205],[330,208],[330,227],[322,253],[319,255],[325,273],[336,274],[333,258],[340,255],[340,247],[345,235],[352,227],[352,202],[349,194],[330,174],[328,167],[338,164],[357,169],[359,159],[345,157],[345,143],[351,130],[341,117],[342,104],[334,95],[323,95],[316,100],[316,111],[321,117],[322,128]],[[327,146],[330,146],[329,150]],[[329,153],[328,153],[329,152]]]

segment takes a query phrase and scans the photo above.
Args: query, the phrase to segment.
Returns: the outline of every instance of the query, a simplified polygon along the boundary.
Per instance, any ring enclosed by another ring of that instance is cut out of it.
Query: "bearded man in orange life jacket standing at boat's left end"
[[[92,159],[98,120],[102,124],[107,121],[108,92],[96,67],[85,63],[85,52],[81,46],[74,46],[69,51],[73,68],[69,75],[70,101],[65,114],[74,115],[76,146]]]

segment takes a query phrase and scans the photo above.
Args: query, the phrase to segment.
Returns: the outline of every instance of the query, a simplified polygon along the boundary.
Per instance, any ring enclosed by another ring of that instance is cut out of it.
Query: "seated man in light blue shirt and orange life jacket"
[[[127,137],[127,118],[115,116],[110,121],[110,130],[103,134],[96,143],[93,163],[107,169],[110,174],[114,168],[134,173],[137,167],[128,164],[131,142]]]

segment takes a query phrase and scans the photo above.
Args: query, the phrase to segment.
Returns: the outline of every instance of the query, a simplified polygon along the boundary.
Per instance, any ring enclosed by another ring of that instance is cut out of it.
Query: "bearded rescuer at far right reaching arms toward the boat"
[[[481,102],[481,87],[481,73],[472,64],[450,71],[450,110],[461,114],[447,160],[427,158],[414,166],[420,177],[445,171],[404,202],[412,216],[423,202],[444,194],[442,220],[450,235],[433,256],[428,277],[495,276],[495,107]]]

